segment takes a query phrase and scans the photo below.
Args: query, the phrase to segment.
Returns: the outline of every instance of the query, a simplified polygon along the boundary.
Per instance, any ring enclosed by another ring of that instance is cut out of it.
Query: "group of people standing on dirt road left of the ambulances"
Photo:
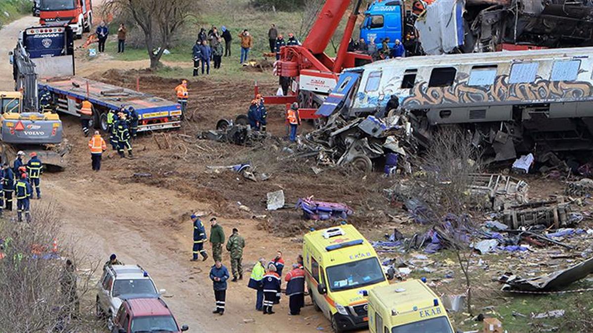
[[[200,255],[202,261],[208,259],[208,253],[204,243],[210,241],[212,244],[212,257],[215,264],[211,267],[209,277],[212,280],[216,308],[212,313],[222,315],[225,311],[227,297],[227,280],[231,277],[232,282],[243,280],[243,248],[246,245],[245,239],[240,235],[237,228],[232,229],[226,249],[231,258],[231,274],[225,265],[222,264],[222,245],[225,242],[224,230],[219,225],[216,217],[210,219],[210,236],[206,238],[206,229],[200,220],[200,214],[194,213],[190,216],[193,223],[193,248],[192,261],[198,261]],[[256,310],[264,314],[274,313],[272,307],[280,302],[280,285],[282,284],[282,271],[284,269],[282,252],[278,251],[276,257],[270,261],[260,258],[251,271],[251,277],[247,287],[256,290]],[[305,272],[302,267],[302,256],[299,256],[297,263],[293,265],[290,273],[286,274],[286,295],[289,296],[289,307],[291,315],[298,315],[304,306]]]

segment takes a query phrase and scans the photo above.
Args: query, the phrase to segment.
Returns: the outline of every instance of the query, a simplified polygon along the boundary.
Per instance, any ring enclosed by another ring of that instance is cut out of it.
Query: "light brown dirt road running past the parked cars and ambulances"
[[[14,46],[20,29],[34,23],[34,18],[25,17],[2,29],[0,53],[4,55]],[[0,73],[5,78],[0,87],[11,89],[12,73],[7,63],[0,61]],[[89,73],[92,69],[102,72],[110,68],[107,61],[102,63],[104,67],[98,67],[96,63],[87,63],[86,68],[78,65],[79,72]],[[165,298],[166,302],[178,321],[190,326],[191,332],[307,332],[316,331],[318,326],[329,330],[326,319],[315,313],[311,306],[307,306],[301,316],[286,315],[286,299],[275,309],[277,313],[273,316],[256,312],[255,292],[246,287],[248,271],[244,274],[245,280],[229,283],[225,315],[213,316],[212,282],[208,278],[212,261],[189,261],[192,226],[188,218],[196,210],[212,212],[212,207],[200,200],[204,198],[130,182],[129,170],[133,170],[135,164],[151,163],[143,158],[142,151],[136,151],[137,157],[133,160],[113,158],[111,153],[111,158],[104,156],[101,172],[91,171],[87,139],[82,137],[78,120],[70,116],[62,116],[62,119],[65,137],[73,145],[70,164],[65,172],[44,174],[42,191],[43,201],[55,202],[62,212],[64,238],[77,239],[81,250],[96,261],[105,261],[115,252],[126,264],[142,265],[159,288],[167,289],[170,297]],[[148,141],[152,139],[141,138],[138,146]],[[36,204],[40,204],[39,201],[33,201],[31,209],[34,210]],[[246,238],[244,267],[250,268],[262,255],[272,259],[278,248],[285,250],[287,265],[294,262],[298,242],[267,235],[257,230],[254,220],[229,220],[225,219],[224,212],[217,213],[227,235],[237,226]],[[224,261],[229,266],[226,253]],[[245,322],[244,319],[249,320]]]

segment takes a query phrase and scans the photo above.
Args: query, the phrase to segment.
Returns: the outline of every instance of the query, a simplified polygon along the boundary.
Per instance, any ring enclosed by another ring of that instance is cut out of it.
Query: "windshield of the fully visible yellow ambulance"
[[[366,258],[327,267],[327,279],[332,292],[347,290],[385,281],[377,258]]]

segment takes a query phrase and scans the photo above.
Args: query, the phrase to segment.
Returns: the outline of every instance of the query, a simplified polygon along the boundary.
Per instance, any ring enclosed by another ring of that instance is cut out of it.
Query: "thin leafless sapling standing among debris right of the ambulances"
[[[454,252],[465,278],[467,311],[472,313],[469,266],[474,252],[469,248],[473,236],[467,230],[474,227],[470,215],[474,198],[468,188],[471,174],[480,170],[480,151],[471,143],[470,133],[443,127],[415,164],[423,172],[416,172],[410,187],[410,196],[420,200],[414,213]]]

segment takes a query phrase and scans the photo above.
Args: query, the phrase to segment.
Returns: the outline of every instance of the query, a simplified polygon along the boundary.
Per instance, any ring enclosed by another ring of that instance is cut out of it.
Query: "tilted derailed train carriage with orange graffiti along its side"
[[[396,95],[421,143],[435,127],[455,124],[498,161],[536,150],[590,151],[591,55],[593,47],[383,60],[343,72],[318,112],[375,113]]]

